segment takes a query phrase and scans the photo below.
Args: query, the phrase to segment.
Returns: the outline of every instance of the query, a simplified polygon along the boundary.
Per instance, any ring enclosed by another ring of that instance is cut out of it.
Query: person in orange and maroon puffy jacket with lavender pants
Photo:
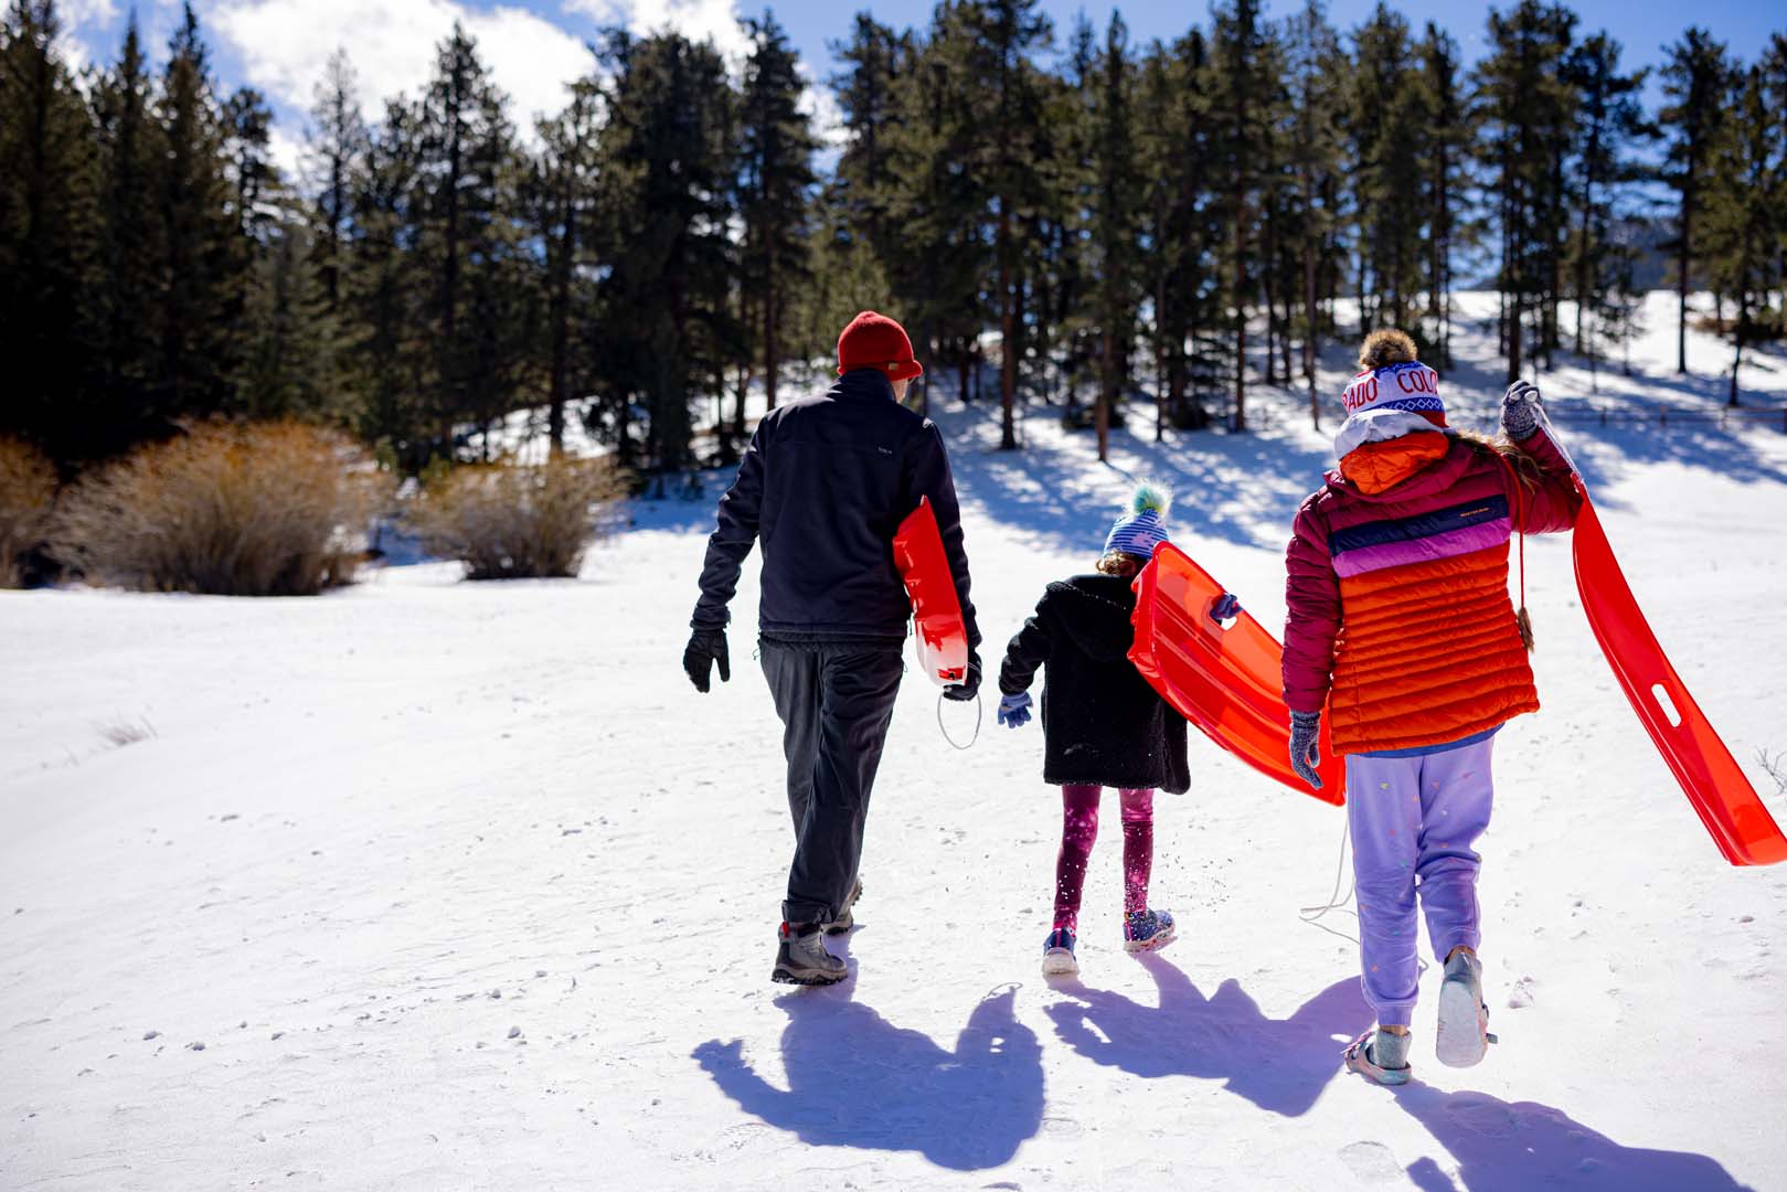
[[[1378,1015],[1346,1065],[1399,1085],[1417,899],[1446,967],[1439,1058],[1483,1058],[1481,858],[1471,845],[1489,826],[1494,735],[1539,709],[1508,599],[1508,540],[1569,529],[1581,497],[1537,425],[1537,388],[1510,386],[1506,443],[1492,445],[1447,429],[1439,375],[1401,331],[1371,334],[1360,368],[1335,438],[1340,466],[1303,502],[1285,556],[1283,679],[1297,772],[1321,786],[1322,715],[1346,758],[1362,979]]]

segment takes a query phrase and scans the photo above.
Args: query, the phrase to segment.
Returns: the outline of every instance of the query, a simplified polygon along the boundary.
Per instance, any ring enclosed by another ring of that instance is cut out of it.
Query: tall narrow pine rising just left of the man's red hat
[[[751,38],[740,95],[740,214],[745,222],[743,288],[761,313],[763,390],[777,404],[781,322],[790,293],[811,281],[810,207],[813,138],[801,97],[806,84],[788,34],[765,13],[743,21]]]

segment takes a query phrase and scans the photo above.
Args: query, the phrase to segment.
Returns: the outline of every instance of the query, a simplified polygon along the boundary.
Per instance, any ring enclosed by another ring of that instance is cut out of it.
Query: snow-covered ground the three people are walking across
[[[1603,374],[1599,400],[1723,395],[1710,340],[1707,377],[1662,372],[1665,311],[1651,377]],[[1460,332],[1460,420],[1494,409],[1492,347]],[[1587,393],[1576,368],[1542,382],[1560,409]],[[1787,400],[1782,357],[1746,386]],[[990,647],[1140,474],[1281,624],[1281,543],[1328,463],[1299,400],[1262,395],[1249,436],[1117,436],[1113,466],[1047,409],[997,454],[990,409],[940,404]],[[1564,432],[1787,822],[1757,761],[1787,751],[1787,434]],[[1355,949],[1297,915],[1330,899],[1338,811],[1194,740],[1194,790],[1158,801],[1181,940],[1120,951],[1108,822],[1083,974],[1051,985],[1042,740],[988,709],[956,752],[917,679],[836,945],[852,979],[770,985],[792,838],[756,567],[733,683],[699,697],[679,652],[711,504],[634,515],[575,583],[0,593],[0,1188],[1787,1187],[1787,870],[1719,860],[1594,647],[1567,540],[1528,543],[1546,708],[1499,738],[1483,847],[1501,1044],[1433,1062],[1430,972],[1419,1083],[1390,1092],[1338,1072],[1369,1020]]]

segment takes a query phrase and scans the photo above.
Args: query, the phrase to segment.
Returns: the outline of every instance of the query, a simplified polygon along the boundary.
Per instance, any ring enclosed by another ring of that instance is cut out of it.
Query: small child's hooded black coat
[[[1017,695],[1044,668],[1042,781],[1054,785],[1190,785],[1185,718],[1129,661],[1135,592],[1119,575],[1074,575],[1042,593],[1006,647],[999,690]]]

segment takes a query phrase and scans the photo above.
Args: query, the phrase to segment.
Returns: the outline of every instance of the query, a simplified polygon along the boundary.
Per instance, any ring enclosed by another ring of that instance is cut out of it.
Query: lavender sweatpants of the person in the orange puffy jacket
[[[1471,849],[1489,827],[1496,738],[1414,758],[1346,760],[1347,824],[1358,881],[1360,969],[1365,1001],[1383,1026],[1408,1026],[1415,1008],[1415,895],[1440,961],[1476,949],[1476,870]]]

